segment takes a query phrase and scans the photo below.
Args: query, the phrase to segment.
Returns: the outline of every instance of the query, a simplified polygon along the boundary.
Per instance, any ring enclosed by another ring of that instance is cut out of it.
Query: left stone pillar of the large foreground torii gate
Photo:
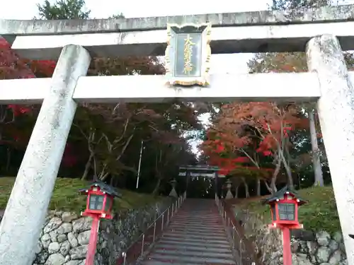
[[[33,263],[76,110],[72,95],[90,61],[83,47],[62,49],[1,221],[1,265]]]

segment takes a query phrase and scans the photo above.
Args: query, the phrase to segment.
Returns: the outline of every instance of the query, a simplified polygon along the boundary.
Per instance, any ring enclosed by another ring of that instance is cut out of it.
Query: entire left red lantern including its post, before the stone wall
[[[92,218],[89,247],[86,254],[85,265],[93,265],[95,260],[98,229],[101,218],[112,219],[112,207],[114,197],[121,197],[120,194],[104,182],[93,182],[88,189],[81,189],[81,194],[87,195],[86,210],[81,216]]]

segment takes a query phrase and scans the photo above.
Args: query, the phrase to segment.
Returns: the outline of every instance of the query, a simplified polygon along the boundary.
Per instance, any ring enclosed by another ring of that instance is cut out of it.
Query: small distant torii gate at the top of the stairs
[[[219,170],[219,167],[213,167],[210,165],[183,165],[179,167],[178,175],[185,177],[185,190],[188,189],[188,182],[190,177],[209,177],[215,179],[215,196],[218,196],[218,179],[219,177],[225,177],[225,175],[219,174]]]

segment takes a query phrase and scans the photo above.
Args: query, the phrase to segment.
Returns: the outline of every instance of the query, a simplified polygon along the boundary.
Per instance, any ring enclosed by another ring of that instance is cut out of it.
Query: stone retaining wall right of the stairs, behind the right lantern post
[[[264,265],[282,264],[282,235],[280,230],[268,228],[259,216],[245,216],[236,211],[236,218],[243,220],[246,236],[256,245],[259,261]],[[348,265],[341,232],[321,230],[292,230],[293,265]]]

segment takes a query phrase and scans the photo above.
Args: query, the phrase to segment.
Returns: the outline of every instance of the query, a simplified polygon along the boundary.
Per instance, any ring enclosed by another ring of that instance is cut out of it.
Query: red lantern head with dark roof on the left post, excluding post
[[[87,195],[86,210],[81,215],[106,219],[113,218],[113,199],[122,197],[115,188],[101,181],[93,182],[90,187],[80,189],[79,192]]]

